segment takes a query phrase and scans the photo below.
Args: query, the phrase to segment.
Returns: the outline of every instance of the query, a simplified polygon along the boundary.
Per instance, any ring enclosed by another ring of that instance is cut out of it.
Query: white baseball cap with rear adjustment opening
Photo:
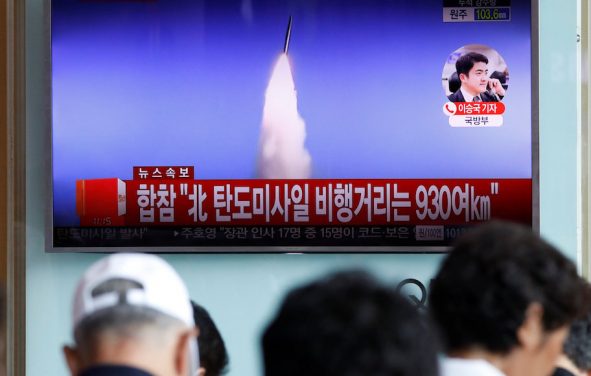
[[[133,282],[125,291],[96,293],[96,288],[113,279]],[[94,293],[93,293],[94,292]],[[74,296],[73,327],[90,314],[126,304],[154,309],[194,327],[187,287],[177,272],[161,258],[142,253],[117,253],[94,263],[78,282]]]

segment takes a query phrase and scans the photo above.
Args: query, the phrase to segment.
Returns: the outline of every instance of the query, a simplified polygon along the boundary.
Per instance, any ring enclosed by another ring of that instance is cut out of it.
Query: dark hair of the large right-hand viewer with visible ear
[[[463,236],[431,283],[429,309],[447,351],[506,354],[532,303],[545,331],[586,312],[589,289],[573,263],[530,229],[490,222]]]

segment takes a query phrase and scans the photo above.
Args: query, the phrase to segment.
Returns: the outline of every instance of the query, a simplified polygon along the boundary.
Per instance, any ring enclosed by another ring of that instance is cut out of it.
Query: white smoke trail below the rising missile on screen
[[[304,146],[306,123],[298,113],[298,101],[285,53],[275,65],[265,93],[258,156],[258,177],[307,179],[312,158]]]

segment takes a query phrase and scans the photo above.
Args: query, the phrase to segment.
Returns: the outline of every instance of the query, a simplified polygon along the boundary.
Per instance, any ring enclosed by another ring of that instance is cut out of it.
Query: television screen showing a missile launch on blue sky
[[[529,0],[51,0],[48,250],[533,225],[531,24]]]

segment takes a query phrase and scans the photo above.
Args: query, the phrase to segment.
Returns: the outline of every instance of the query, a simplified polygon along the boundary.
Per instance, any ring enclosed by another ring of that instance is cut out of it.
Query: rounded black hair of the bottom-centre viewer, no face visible
[[[361,271],[299,287],[263,335],[266,376],[435,376],[424,317]]]

